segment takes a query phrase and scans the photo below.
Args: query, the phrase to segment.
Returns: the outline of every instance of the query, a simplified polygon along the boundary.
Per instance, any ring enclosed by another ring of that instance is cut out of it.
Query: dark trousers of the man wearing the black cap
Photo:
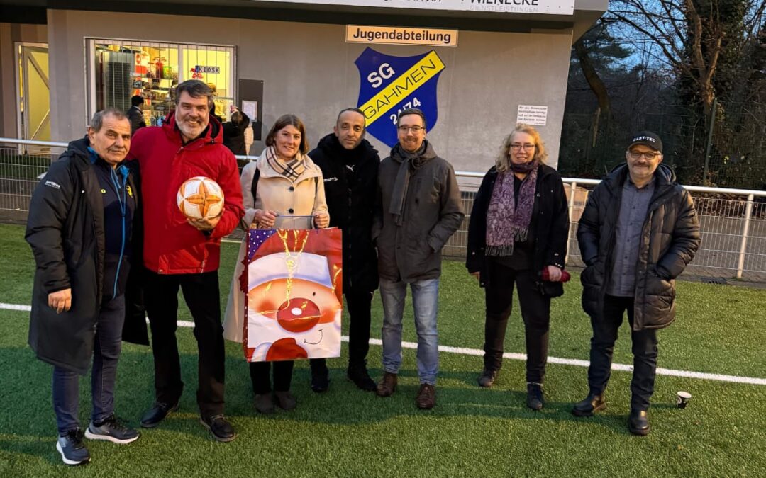
[[[617,330],[620,329],[625,311],[627,311],[627,320],[631,328],[630,338],[633,340],[630,408],[648,410],[649,400],[654,393],[657,369],[657,331],[656,329],[633,330],[632,297],[607,295],[604,297],[602,317],[591,317],[593,338],[591,339],[591,366],[588,367],[588,386],[594,394],[604,393],[607,388]]]

